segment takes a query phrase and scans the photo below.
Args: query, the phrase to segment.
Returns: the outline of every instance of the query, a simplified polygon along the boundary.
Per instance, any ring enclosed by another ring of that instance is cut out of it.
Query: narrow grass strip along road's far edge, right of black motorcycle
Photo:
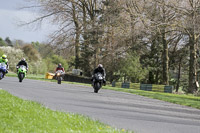
[[[152,92],[152,91],[142,91],[142,90],[125,89],[125,88],[115,88],[115,87],[109,87],[109,86],[105,86],[103,88],[133,93],[136,95],[141,95],[141,96],[145,96],[145,97],[163,100],[166,102],[171,102],[171,103],[175,103],[175,104],[180,104],[180,105],[185,105],[185,106],[190,106],[193,108],[200,109],[200,97],[196,97],[196,96],[178,95],[178,94]]]

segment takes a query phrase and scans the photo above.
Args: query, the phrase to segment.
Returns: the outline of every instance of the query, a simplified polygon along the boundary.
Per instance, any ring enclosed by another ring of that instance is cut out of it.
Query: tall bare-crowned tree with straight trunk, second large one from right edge
[[[147,12],[149,12],[148,20],[151,23],[149,27],[155,29],[162,43],[162,82],[167,85],[169,84],[169,45],[178,35],[177,32],[173,30],[177,14],[166,6],[171,2],[173,1],[156,0],[152,1],[152,4],[149,4],[149,8],[147,8]],[[151,9],[153,10],[150,11]]]

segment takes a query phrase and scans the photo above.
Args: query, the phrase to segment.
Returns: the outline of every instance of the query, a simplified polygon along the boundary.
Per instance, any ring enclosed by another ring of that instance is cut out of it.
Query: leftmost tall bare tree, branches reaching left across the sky
[[[57,45],[58,47],[65,47],[69,45],[69,43],[67,43],[68,39],[73,37],[75,41],[71,46],[75,47],[75,68],[79,67],[80,58],[79,39],[81,24],[79,22],[80,14],[78,14],[78,2],[77,0],[37,1],[37,5],[24,8],[39,7],[41,16],[22,24],[22,26],[41,24],[44,20],[51,20],[52,23],[59,25],[59,28],[51,34],[51,44]],[[63,44],[65,46],[62,46]]]

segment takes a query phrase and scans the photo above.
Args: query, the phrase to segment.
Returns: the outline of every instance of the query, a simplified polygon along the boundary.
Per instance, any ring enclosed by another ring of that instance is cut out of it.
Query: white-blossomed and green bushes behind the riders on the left
[[[9,39],[9,38],[8,38]],[[58,63],[61,63],[65,70],[68,70],[68,62],[62,56],[53,54],[53,48],[39,42],[32,44],[18,45],[16,47],[0,47],[0,55],[5,53],[8,56],[10,71],[16,71],[16,65],[22,57],[26,58],[29,66],[28,74],[45,74],[54,72]],[[42,54],[42,56],[40,55]],[[43,58],[41,58],[43,57]]]

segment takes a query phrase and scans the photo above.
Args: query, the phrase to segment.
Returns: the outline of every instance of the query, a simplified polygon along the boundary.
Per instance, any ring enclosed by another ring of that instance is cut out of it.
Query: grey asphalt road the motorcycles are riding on
[[[136,133],[200,133],[200,110],[134,94],[92,87],[5,77],[0,88],[53,110],[89,116]]]

